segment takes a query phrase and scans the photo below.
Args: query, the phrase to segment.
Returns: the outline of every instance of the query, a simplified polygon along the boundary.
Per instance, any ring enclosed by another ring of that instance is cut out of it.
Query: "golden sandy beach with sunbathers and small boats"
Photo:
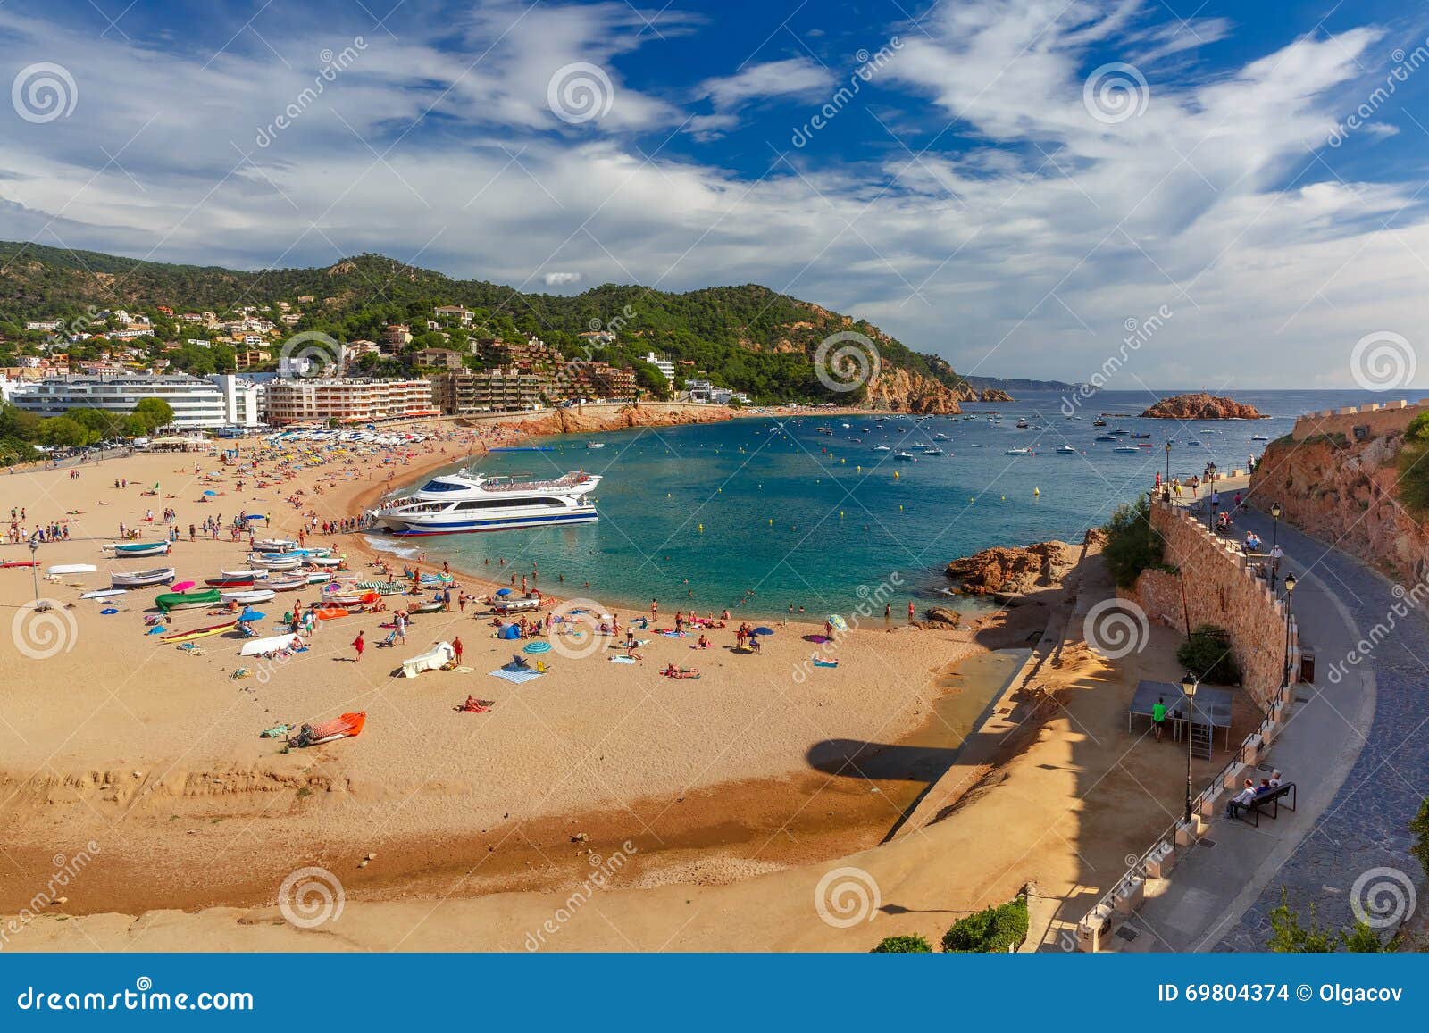
[[[1050,720],[1039,716],[996,750],[975,750],[950,817],[879,846],[927,787],[922,774],[946,769],[977,720],[980,703],[966,727],[950,726],[953,674],[989,647],[1026,646],[1049,614],[1065,620],[1057,587],[956,630],[885,626],[879,614],[840,640],[836,669],[807,663],[816,650],[829,653],[807,639],[822,626],[779,623],[752,654],[733,649],[732,624],[709,633],[709,650],[643,634],[636,664],[610,663],[616,650],[606,649],[580,659],[546,653],[550,673],[524,684],[487,674],[520,643],[490,637],[482,607],[419,614],[407,644],[392,649],[376,647],[390,613],[322,622],[309,652],[254,662],[237,654],[236,637],[203,639],[196,656],[147,636],[153,590],[117,603],[79,600],[109,584],[110,567],[161,562],[201,582],[243,566],[246,542],[189,542],[187,533],[166,560],[107,560],[100,546],[120,522],[146,537],[163,533],[144,522],[149,509],[174,507],[184,532],[201,516],[244,509],[272,517],[266,533],[294,534],[313,516],[360,513],[387,490],[389,473],[400,486],[466,454],[476,444],[467,433],[446,429],[446,440],[400,459],[314,459],[282,483],[249,476],[242,493],[236,471],[216,457],[197,457],[196,477],[193,454],[104,461],[81,467],[79,479],[69,470],[13,474],[10,497],[34,500],[21,530],[66,520],[69,540],[39,553],[40,594],[59,603],[49,613],[26,606],[29,569],[0,572],[0,604],[24,643],[0,662],[0,914],[27,913],[57,864],[86,859],[66,880],[64,903],[20,926],[24,949],[534,949],[524,940],[532,923],[539,927],[572,886],[619,856],[619,890],[609,903],[602,897],[602,909],[622,919],[610,926],[587,913],[562,926],[554,949],[866,950],[867,930],[850,933],[810,912],[809,884],[835,860],[875,873],[885,899],[896,886],[900,906],[926,907],[890,914],[879,936],[936,936],[949,913],[1006,897],[1029,879],[1075,897],[1095,873],[1110,877],[1173,812],[1175,779],[1137,772],[1120,746],[1086,754],[1096,737],[1089,727],[1109,733],[1120,723],[1140,667],[1162,664],[1159,676],[1173,676],[1170,649],[1112,670],[1070,643],[1056,670],[1040,672],[1039,689],[1070,692],[1086,713],[1049,712]],[[116,479],[127,487],[116,489]],[[143,494],[156,481],[160,497]],[[217,494],[196,501],[204,490]],[[339,547],[363,574],[376,562],[357,534],[309,543]],[[24,544],[0,547],[0,559],[27,557]],[[69,563],[97,572],[44,576]],[[464,592],[490,587],[456,577]],[[660,602],[663,623],[679,600]],[[287,609],[280,603],[263,606],[269,622]],[[117,613],[103,614],[106,604]],[[211,620],[190,610],[171,627]],[[354,662],[359,630],[370,647]],[[396,676],[404,657],[456,636],[470,673]],[[700,677],[663,677],[669,663],[697,667]],[[240,667],[247,677],[234,677]],[[1097,692],[1077,692],[1090,689]],[[459,713],[469,694],[492,709]],[[259,737],[280,722],[357,710],[367,723],[354,739],[284,752]],[[1167,762],[1140,763],[1155,770]],[[1125,779],[1127,792],[1105,812],[1079,806],[1085,772],[1103,764],[1099,784]],[[1132,792],[1143,782],[1165,783],[1166,800]],[[369,854],[376,857],[363,864]],[[337,940],[273,910],[280,883],[310,866],[340,879],[349,924]],[[676,922],[684,912],[676,899],[697,902],[690,906],[703,919]],[[712,922],[736,912],[737,934]]]

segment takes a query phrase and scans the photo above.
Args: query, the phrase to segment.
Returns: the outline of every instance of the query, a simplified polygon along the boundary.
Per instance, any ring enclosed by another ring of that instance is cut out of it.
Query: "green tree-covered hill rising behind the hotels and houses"
[[[309,296],[314,300],[297,300]],[[682,367],[682,374],[709,377],[716,384],[747,391],[757,401],[862,397],[820,384],[812,361],[829,334],[853,330],[876,343],[885,377],[895,370],[909,374],[899,383],[916,386],[916,391],[906,391],[910,406],[946,410],[956,407],[957,397],[970,397],[943,359],[912,351],[870,323],[757,284],[683,294],[619,284],[574,296],[520,293],[482,280],[453,280],[379,254],[344,259],[323,269],[237,271],[0,243],[0,336],[6,339],[0,349],[7,350],[0,363],[44,337],[24,330],[27,320],[71,320],[96,309],[126,309],[150,314],[156,339],[173,340],[190,331],[159,313],[157,306],[176,313],[221,316],[243,306],[262,310],[277,301],[303,311],[293,333],[319,330],[344,341],[380,340],[386,324],[407,323],[416,336],[414,347],[443,346],[440,334],[426,330],[426,320],[434,306],[460,304],[476,313],[470,337],[513,339],[527,333],[570,357],[589,354],[637,370],[640,357],[653,350],[672,360],[692,361],[693,366]],[[604,329],[616,331],[613,344],[592,349],[579,337]],[[460,337],[456,343],[462,343]],[[201,350],[167,354],[180,369],[213,361],[211,356],[196,351]]]

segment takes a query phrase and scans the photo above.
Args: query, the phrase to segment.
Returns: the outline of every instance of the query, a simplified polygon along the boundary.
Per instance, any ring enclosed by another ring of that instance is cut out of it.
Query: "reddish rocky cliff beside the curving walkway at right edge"
[[[1265,510],[1279,501],[1285,519],[1332,542],[1390,577],[1429,576],[1429,529],[1396,501],[1396,459],[1403,433],[1350,443],[1339,434],[1272,441],[1250,479]]]

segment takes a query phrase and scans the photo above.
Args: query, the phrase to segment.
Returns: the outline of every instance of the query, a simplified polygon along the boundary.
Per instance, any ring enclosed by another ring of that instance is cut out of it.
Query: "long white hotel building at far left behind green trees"
[[[174,410],[177,430],[204,430],[257,426],[260,390],[233,376],[71,376],[26,383],[10,393],[10,401],[37,416],[63,416],[71,409],[127,416],[143,399],[163,399]]]

